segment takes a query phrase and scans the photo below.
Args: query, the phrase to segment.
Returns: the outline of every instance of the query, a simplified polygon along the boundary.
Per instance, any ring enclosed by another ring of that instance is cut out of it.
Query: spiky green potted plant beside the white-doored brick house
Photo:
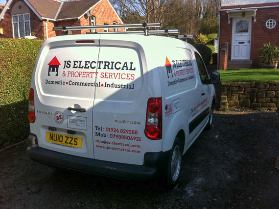
[[[259,50],[259,62],[263,68],[277,69],[279,47],[276,44],[264,44]]]

